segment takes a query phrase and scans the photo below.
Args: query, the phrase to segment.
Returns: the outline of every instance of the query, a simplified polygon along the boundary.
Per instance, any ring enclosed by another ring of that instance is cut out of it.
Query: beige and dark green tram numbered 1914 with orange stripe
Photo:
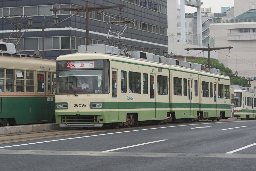
[[[55,122],[55,90],[56,61],[16,54],[1,42],[0,126]]]

